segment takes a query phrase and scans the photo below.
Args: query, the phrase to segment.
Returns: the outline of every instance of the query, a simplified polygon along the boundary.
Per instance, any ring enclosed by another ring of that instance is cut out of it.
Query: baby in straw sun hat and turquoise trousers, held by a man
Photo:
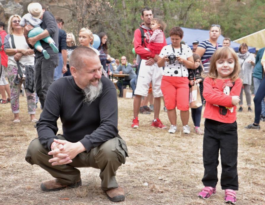
[[[32,25],[34,28],[32,30],[29,31],[28,33],[28,38],[34,37],[40,33],[42,33],[44,30],[40,27],[42,20],[40,18],[42,18],[42,7],[41,4],[39,3],[30,3],[28,4],[28,13],[25,14],[21,21],[20,21],[20,26],[24,27],[25,25]],[[56,44],[54,43],[54,40],[48,36],[46,38],[42,38],[41,40],[45,41],[46,43],[49,43],[49,45],[52,47],[52,50],[54,53],[58,53],[59,50],[56,46]],[[44,55],[45,59],[49,59],[50,55],[47,53],[46,50],[43,49],[43,47],[41,46],[41,42],[37,41],[34,45],[35,49],[38,50],[39,52],[41,52]]]

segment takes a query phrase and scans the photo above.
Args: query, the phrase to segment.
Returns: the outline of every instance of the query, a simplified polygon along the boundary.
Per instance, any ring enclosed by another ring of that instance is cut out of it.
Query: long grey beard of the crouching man
[[[85,96],[84,102],[91,104],[94,100],[96,100],[97,97],[102,93],[102,87],[103,85],[101,80],[98,81],[97,86],[91,84],[87,85],[83,90]]]

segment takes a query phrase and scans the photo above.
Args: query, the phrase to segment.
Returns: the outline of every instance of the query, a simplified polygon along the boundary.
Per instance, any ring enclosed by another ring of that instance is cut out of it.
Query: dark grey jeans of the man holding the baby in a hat
[[[49,54],[50,58],[46,60],[40,56],[35,60],[35,83],[36,93],[39,97],[42,108],[49,86],[53,83],[54,68],[59,63],[58,54]]]

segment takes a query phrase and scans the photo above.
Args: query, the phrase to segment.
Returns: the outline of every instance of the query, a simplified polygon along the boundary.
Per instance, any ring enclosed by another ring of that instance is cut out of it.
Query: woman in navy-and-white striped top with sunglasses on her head
[[[219,36],[221,35],[221,26],[217,24],[211,25],[209,31],[209,39],[200,42],[196,49],[196,54],[198,54],[202,59],[203,70],[208,73],[210,66],[211,57],[218,48],[222,47],[222,44],[217,43]]]

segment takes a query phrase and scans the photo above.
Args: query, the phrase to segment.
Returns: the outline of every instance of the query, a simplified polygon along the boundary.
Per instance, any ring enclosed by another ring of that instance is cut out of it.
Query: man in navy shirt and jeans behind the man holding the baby
[[[55,17],[57,26],[59,28],[58,36],[58,49],[59,49],[59,65],[54,70],[54,80],[57,80],[62,77],[62,73],[67,71],[66,61],[67,61],[67,46],[66,46],[66,33],[62,30],[64,21],[60,17]]]

